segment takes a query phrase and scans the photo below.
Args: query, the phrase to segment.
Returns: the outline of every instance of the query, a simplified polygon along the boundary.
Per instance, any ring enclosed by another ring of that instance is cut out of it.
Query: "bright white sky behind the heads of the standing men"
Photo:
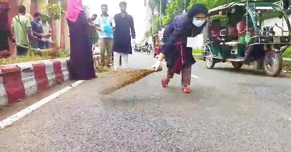
[[[101,15],[101,5],[108,5],[108,14],[114,16],[120,13],[119,2],[127,2],[127,13],[133,17],[136,42],[144,38],[146,8],[144,0],[83,0],[83,5],[90,8],[90,15]]]

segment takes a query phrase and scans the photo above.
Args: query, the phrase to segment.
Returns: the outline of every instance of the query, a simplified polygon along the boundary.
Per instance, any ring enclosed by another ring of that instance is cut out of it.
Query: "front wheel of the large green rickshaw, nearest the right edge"
[[[280,52],[269,51],[264,59],[264,71],[268,76],[279,76],[283,69],[283,58]]]

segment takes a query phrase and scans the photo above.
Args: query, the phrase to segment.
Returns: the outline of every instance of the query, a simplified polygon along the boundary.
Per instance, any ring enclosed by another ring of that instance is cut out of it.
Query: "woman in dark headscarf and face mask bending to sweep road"
[[[176,16],[165,28],[162,53],[158,61],[152,66],[161,65],[164,58],[167,59],[167,72],[162,79],[162,86],[167,87],[170,78],[174,74],[182,73],[182,92],[190,93],[188,86],[191,82],[191,66],[196,61],[192,55],[192,48],[187,46],[187,37],[195,37],[200,34],[206,25],[208,10],[202,3],[194,3],[187,14]]]

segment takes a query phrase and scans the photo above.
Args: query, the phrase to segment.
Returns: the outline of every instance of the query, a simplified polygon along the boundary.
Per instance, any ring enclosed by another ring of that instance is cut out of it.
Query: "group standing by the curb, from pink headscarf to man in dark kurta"
[[[114,70],[119,68],[120,58],[122,67],[128,67],[128,55],[132,53],[131,39],[135,41],[135,30],[133,18],[126,12],[127,3],[122,1],[119,6],[121,13],[114,16],[107,14],[108,6],[103,4],[101,15],[86,17],[82,0],[68,0],[66,18],[69,25],[69,71],[72,79],[96,77],[92,58],[92,45],[95,43],[100,46],[102,66],[110,67],[113,56]]]

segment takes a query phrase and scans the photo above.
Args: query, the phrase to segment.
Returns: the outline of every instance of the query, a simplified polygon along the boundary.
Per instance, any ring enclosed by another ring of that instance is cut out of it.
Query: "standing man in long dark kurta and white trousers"
[[[114,15],[116,23],[113,41],[113,65],[114,70],[119,68],[119,58],[123,68],[127,68],[129,54],[132,54],[131,37],[135,43],[135,30],[133,18],[126,13],[127,3],[122,1],[119,3],[121,13]],[[131,37],[130,37],[131,31]]]

